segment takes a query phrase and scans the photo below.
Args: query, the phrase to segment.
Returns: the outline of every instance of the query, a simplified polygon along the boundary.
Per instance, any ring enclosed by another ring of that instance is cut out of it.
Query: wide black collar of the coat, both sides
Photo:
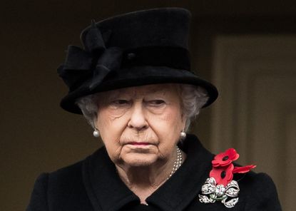
[[[188,135],[180,148],[187,154],[181,167],[146,202],[161,210],[183,210],[196,197],[208,177],[213,155],[200,144],[195,135]],[[126,187],[116,173],[105,148],[83,163],[83,182],[94,210],[119,210],[139,198]]]

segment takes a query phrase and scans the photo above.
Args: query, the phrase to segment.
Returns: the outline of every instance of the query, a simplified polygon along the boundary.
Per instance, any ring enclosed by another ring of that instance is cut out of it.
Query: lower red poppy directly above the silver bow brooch
[[[210,171],[210,177],[214,177],[217,185],[226,186],[231,180],[233,180],[233,164],[226,166],[213,167]]]

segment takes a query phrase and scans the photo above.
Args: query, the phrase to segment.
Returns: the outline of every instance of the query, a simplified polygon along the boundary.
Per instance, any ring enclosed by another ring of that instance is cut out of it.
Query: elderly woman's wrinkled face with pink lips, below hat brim
[[[113,163],[167,161],[184,129],[179,87],[160,84],[101,93],[96,127]]]

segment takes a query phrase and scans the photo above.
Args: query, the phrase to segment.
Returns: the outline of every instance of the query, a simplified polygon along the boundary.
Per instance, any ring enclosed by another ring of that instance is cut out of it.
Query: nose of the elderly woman
[[[148,122],[146,120],[145,110],[143,110],[142,103],[134,103],[131,108],[131,117],[128,121],[128,127],[136,130],[148,128]]]

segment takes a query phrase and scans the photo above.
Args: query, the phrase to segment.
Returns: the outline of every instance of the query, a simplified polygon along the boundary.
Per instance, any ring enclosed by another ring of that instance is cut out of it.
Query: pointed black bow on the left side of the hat
[[[108,73],[121,67],[123,50],[118,47],[106,48],[101,31],[94,21],[84,42],[85,50],[77,46],[68,46],[66,61],[58,68],[70,91],[76,90],[88,78],[92,81],[90,91],[103,81]]]

